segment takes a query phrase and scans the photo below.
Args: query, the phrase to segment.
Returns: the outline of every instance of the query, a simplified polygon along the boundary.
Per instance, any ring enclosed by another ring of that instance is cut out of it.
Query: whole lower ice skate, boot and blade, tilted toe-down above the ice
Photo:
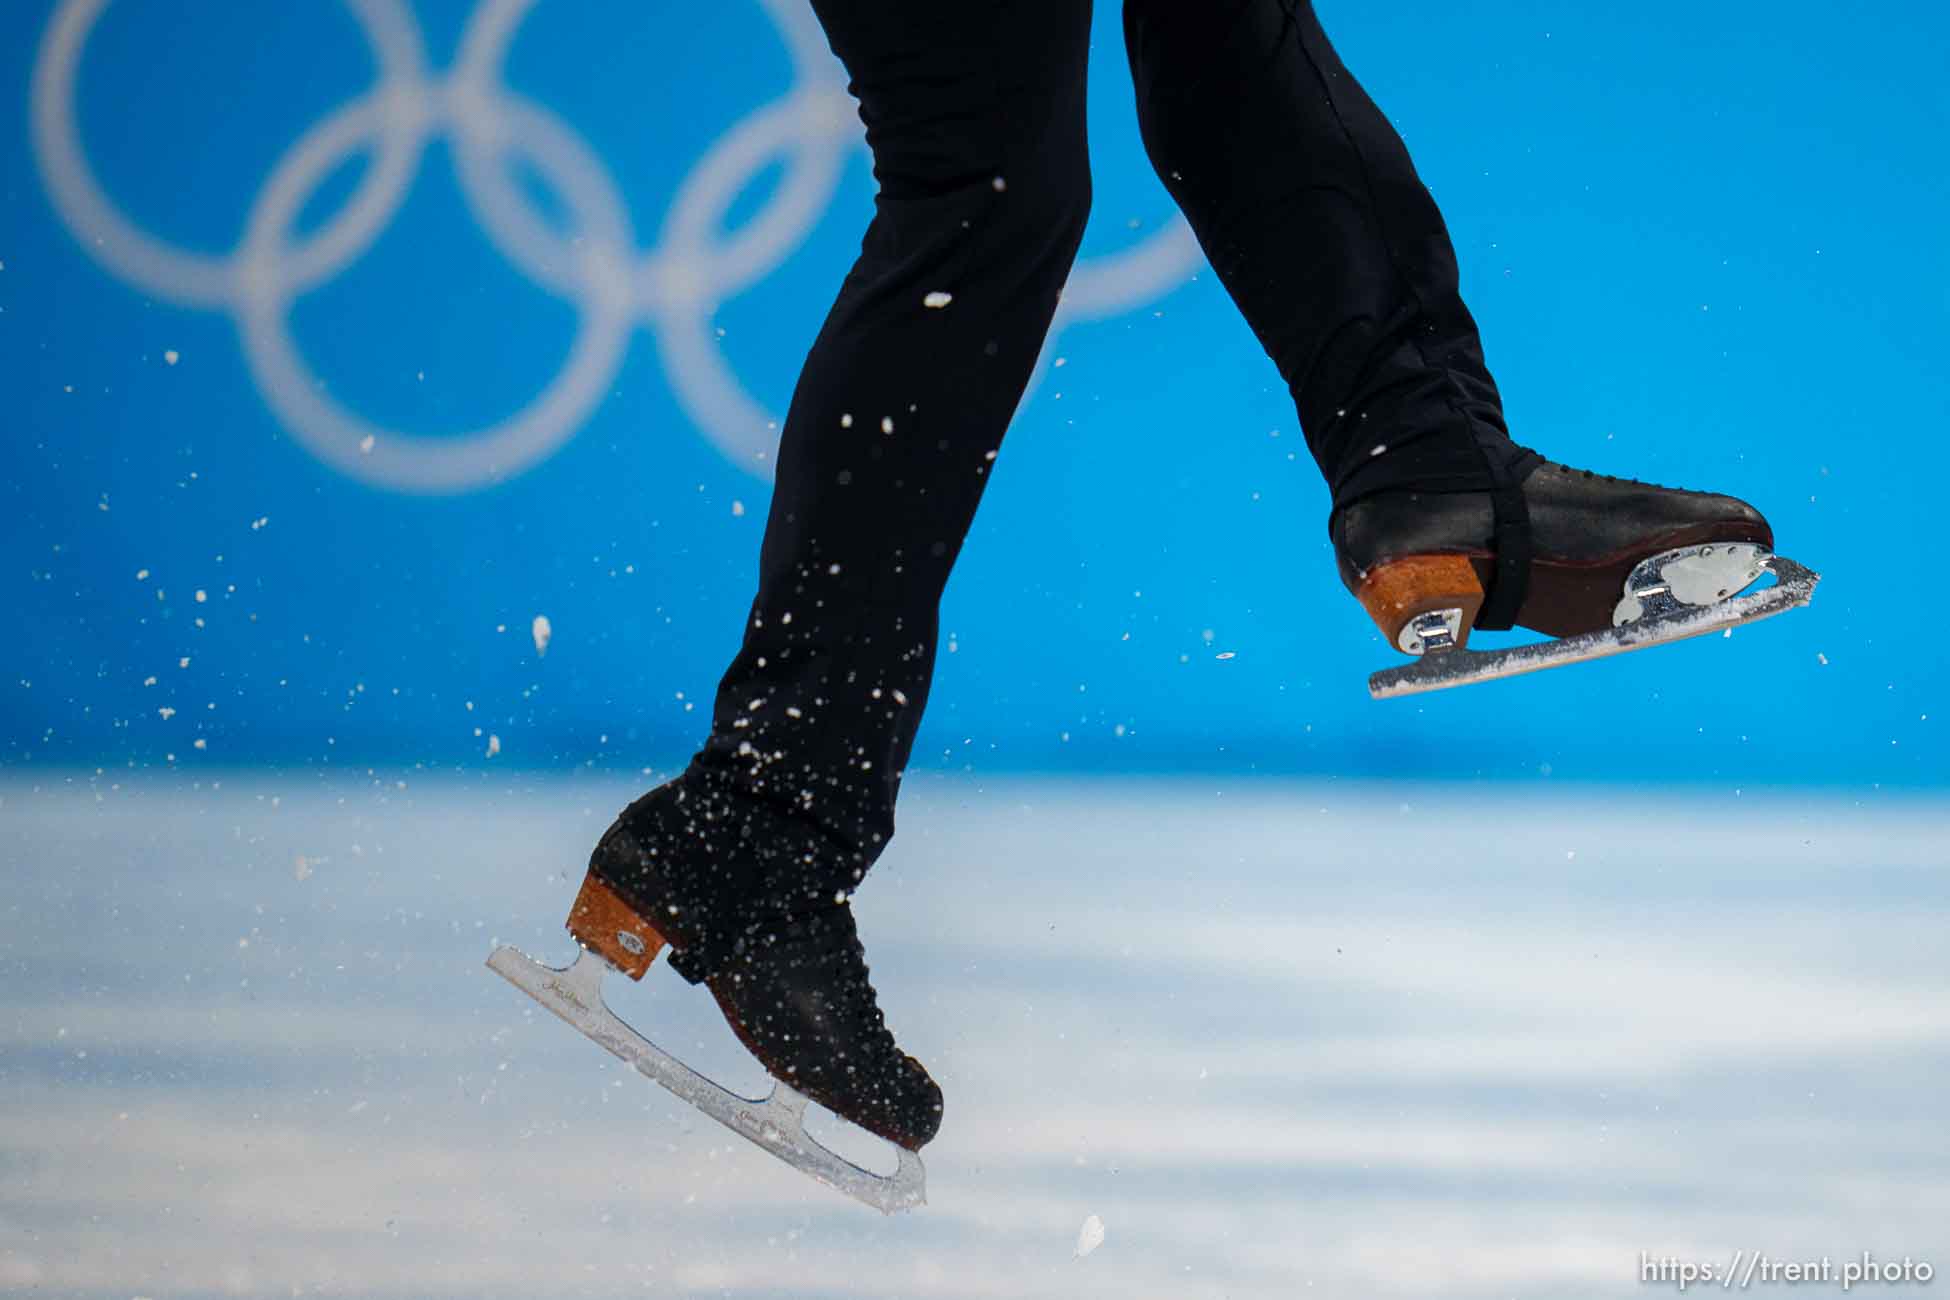
[[[488,965],[796,1169],[883,1212],[922,1204],[926,1171],[916,1152],[940,1128],[942,1093],[885,1027],[852,908],[831,895],[737,914],[712,908],[704,891],[686,889],[644,848],[632,824],[624,813],[591,858],[567,922],[583,947],[571,967],[544,967],[513,947]],[[606,971],[640,980],[665,949],[679,975],[710,988],[739,1041],[772,1074],[766,1097],[720,1088],[603,1004]],[[803,1128],[807,1101],[893,1142],[899,1167],[876,1175],[815,1142]]]

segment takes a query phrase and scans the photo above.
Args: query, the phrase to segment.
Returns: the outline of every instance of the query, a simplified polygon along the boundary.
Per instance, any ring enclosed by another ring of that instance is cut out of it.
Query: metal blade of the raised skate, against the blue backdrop
[[[1521,676],[1544,669],[1560,669],[1568,663],[1587,659],[1609,659],[1648,645],[1685,641],[1708,631],[1722,631],[1751,624],[1761,618],[1784,614],[1808,604],[1821,575],[1804,569],[1786,555],[1771,555],[1767,567],[1774,575],[1774,585],[1747,596],[1718,600],[1714,604],[1681,606],[1667,614],[1630,622],[1620,628],[1601,628],[1581,631],[1574,637],[1539,641],[1535,645],[1511,645],[1494,651],[1443,651],[1427,655],[1412,665],[1384,669],[1367,678],[1367,694],[1377,700],[1394,696],[1416,696],[1429,690],[1449,690],[1451,686],[1470,686],[1474,682],[1494,682],[1503,676]]]

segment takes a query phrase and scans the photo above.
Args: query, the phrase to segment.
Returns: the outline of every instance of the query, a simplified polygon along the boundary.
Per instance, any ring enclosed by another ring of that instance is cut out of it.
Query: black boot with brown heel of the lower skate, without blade
[[[671,969],[712,990],[772,1078],[920,1150],[942,1125],[942,1090],[895,1047],[844,895],[764,883],[778,877],[766,867],[815,848],[768,811],[679,778],[603,836],[569,932],[630,978],[669,945]]]

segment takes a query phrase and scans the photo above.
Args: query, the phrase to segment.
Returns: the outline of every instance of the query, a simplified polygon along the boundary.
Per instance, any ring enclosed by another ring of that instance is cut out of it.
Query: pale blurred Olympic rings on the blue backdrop
[[[33,146],[43,181],[80,246],[127,283],[187,308],[224,310],[279,421],[320,460],[376,487],[452,493],[505,481],[548,458],[608,392],[638,324],[655,333],[684,411],[733,464],[762,472],[776,419],[718,345],[720,304],[772,273],[833,201],[846,154],[862,146],[844,76],[805,0],[759,0],[792,58],[794,86],[755,109],[696,164],[642,251],[614,179],[587,142],[501,72],[534,0],[482,0],[454,66],[435,76],[406,0],[345,0],[378,80],[312,125],[257,191],[234,251],[172,248],[131,222],[96,179],[76,127],[74,84],[109,0],[62,0],[33,70]],[[577,310],[560,372],[521,411],[464,435],[380,429],[326,394],[291,333],[291,306],[355,263],[392,222],[435,138],[447,138],[460,191],[493,248]],[[298,214],[347,160],[370,154],[357,191],[316,232]],[[739,230],[723,220],[774,160],[784,177]],[[534,170],[575,222],[566,238],[536,210],[509,164]],[[1063,320],[1117,316],[1184,281],[1197,246],[1182,220],[1113,257],[1076,265]]]

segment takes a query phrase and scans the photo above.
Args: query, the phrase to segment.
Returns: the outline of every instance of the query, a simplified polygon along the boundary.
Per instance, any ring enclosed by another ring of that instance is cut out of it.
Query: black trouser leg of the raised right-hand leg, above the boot
[[[1139,125],[1279,366],[1336,505],[1511,464],[1457,259],[1306,0],[1125,0]]]

